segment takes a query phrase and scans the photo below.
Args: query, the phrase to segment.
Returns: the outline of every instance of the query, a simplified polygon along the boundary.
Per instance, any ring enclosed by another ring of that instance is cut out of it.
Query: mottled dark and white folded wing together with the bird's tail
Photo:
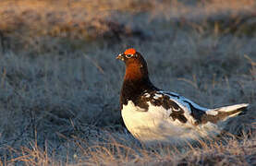
[[[160,96],[163,96],[160,98]],[[217,109],[208,109],[201,107],[197,103],[178,95],[174,92],[155,91],[152,96],[155,101],[152,104],[161,102],[162,106],[168,111],[169,116],[174,120],[189,125],[205,125],[208,122],[217,124],[225,121],[227,118],[236,116],[244,112],[249,104],[236,104],[232,106],[221,107]]]

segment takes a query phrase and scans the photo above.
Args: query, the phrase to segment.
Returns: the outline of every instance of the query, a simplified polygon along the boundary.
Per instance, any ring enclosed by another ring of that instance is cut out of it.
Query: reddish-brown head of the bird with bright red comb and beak
[[[143,56],[133,48],[127,49],[124,53],[119,53],[116,59],[126,64],[126,78],[138,79],[148,77],[147,63]]]

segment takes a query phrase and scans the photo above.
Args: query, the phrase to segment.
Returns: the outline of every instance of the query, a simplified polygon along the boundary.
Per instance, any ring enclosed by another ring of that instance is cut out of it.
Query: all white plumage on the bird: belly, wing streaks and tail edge
[[[156,94],[153,99],[158,100]],[[166,95],[166,94],[165,94]],[[150,97],[149,94],[144,96]],[[148,110],[136,106],[132,101],[128,101],[127,105],[123,105],[121,111],[122,117],[128,131],[138,138],[140,141],[151,144],[155,142],[170,142],[179,144],[184,141],[198,140],[205,136],[216,136],[225,127],[227,118],[237,115],[238,113],[227,116],[223,121],[217,124],[207,122],[201,125],[195,125],[196,119],[191,116],[189,104],[186,104],[183,100],[189,101],[184,97],[180,97],[180,100],[170,98],[172,101],[176,101],[184,111],[184,116],[188,119],[187,123],[181,123],[177,119],[174,120],[170,117],[172,109],[166,110],[163,106],[155,106],[150,101]],[[200,107],[196,103],[189,101],[193,106],[201,109],[207,114],[217,115],[218,112],[230,112],[238,108],[247,107],[248,104],[237,104],[218,109],[206,109]]]

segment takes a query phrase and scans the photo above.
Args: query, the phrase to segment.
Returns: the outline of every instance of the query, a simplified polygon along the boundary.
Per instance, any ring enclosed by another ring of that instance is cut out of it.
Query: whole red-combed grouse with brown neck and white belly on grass
[[[218,136],[227,119],[246,113],[249,103],[209,109],[172,91],[156,88],[142,54],[134,48],[116,59],[126,65],[120,110],[128,132],[145,144],[192,142]]]

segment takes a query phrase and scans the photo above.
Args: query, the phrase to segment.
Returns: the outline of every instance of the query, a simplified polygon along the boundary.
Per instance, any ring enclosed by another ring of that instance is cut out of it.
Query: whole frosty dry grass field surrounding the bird
[[[0,6],[0,163],[255,164],[254,1]],[[130,136],[118,105],[124,66],[115,59],[130,46],[144,54],[159,88],[206,107],[250,103],[226,128],[234,136],[155,149]]]

